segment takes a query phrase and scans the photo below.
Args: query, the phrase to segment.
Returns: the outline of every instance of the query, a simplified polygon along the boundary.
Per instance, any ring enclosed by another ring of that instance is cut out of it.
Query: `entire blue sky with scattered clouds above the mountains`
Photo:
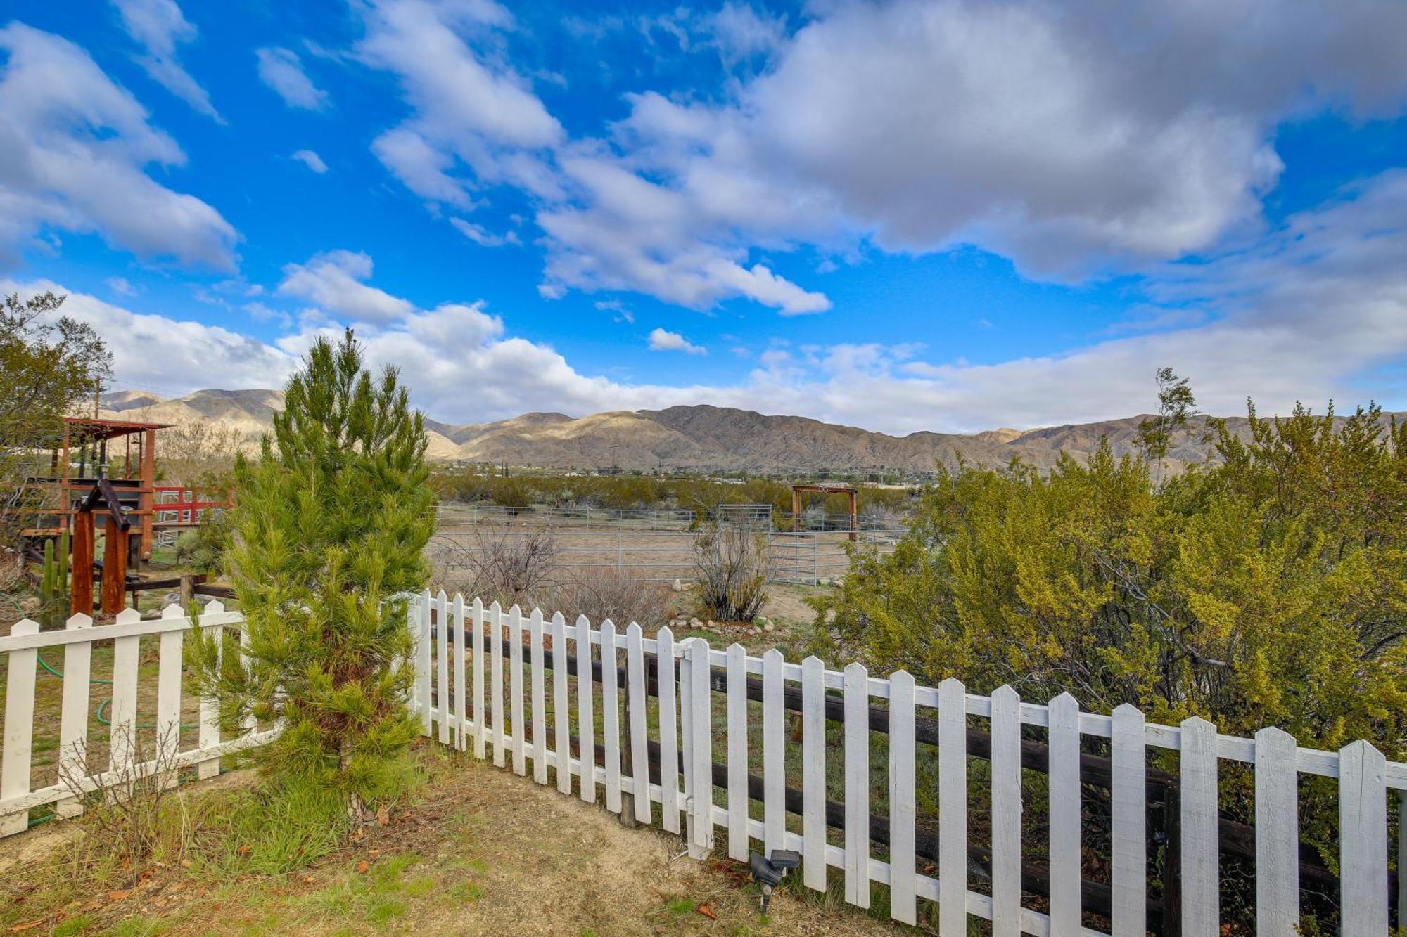
[[[1407,408],[1407,4],[7,4],[0,279],[447,422]]]

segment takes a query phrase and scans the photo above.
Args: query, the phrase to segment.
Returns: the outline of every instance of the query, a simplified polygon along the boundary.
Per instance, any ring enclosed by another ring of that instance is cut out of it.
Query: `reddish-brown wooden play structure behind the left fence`
[[[101,613],[122,611],[124,592],[144,587],[132,574],[151,560],[156,536],[200,526],[207,511],[227,506],[200,501],[183,487],[156,484],[156,433],[166,428],[166,423],[65,418],[49,476],[25,483],[32,497],[24,511],[34,518],[23,532],[25,540],[38,546],[49,539],[62,542],[62,535],[69,535],[70,613],[93,612],[94,574],[101,577]],[[101,561],[96,556],[98,532]]]

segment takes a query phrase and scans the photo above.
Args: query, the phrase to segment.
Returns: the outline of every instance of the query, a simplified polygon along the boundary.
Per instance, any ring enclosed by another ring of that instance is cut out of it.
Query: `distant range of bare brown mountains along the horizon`
[[[273,425],[283,394],[273,390],[203,390],[176,400],[124,391],[110,395],[106,414],[163,423],[217,422],[236,428],[253,443]],[[523,414],[491,423],[454,426],[426,419],[429,457],[508,461],[543,468],[747,470],[747,471],[926,471],[958,453],[972,463],[996,466],[1020,457],[1040,468],[1061,452],[1088,456],[1107,438],[1114,453],[1134,452],[1144,415],[1097,423],[1041,429],[991,429],[981,433],[916,432],[889,436],[837,426],[805,416],[767,416],[727,407],[670,407],[592,414]],[[1245,432],[1244,416],[1228,421]],[[1172,440],[1169,470],[1206,456],[1204,421]]]

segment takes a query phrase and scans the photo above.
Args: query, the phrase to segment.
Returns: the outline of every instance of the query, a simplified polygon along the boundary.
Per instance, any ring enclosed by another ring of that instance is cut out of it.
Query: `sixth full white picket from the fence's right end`
[[[1021,927],[1021,698],[992,694],[992,937]]]

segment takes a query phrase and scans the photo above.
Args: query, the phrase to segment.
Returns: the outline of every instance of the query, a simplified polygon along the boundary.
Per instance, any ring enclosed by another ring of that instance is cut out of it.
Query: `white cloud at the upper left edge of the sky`
[[[219,212],[145,173],[183,165],[180,146],[87,52],[21,23],[0,30],[0,250],[55,228],[234,269],[236,235]]]

